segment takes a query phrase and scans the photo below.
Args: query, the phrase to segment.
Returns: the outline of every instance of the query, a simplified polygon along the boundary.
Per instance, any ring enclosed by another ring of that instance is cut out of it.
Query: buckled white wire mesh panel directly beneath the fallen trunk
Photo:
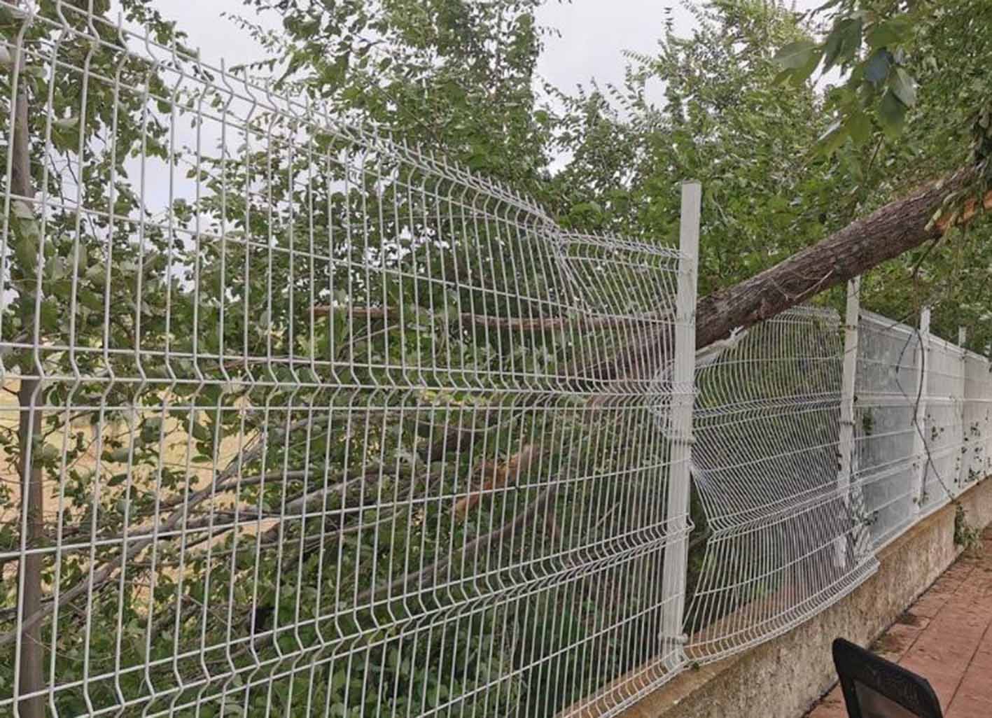
[[[838,483],[842,357],[836,313],[799,307],[697,364],[692,461],[709,537],[690,658],[784,633],[874,571],[860,495]]]

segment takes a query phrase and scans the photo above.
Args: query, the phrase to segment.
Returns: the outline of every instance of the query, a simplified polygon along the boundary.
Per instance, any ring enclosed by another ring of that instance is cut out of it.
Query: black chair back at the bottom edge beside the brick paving
[[[927,679],[891,660],[837,639],[833,664],[850,718],[943,718]]]

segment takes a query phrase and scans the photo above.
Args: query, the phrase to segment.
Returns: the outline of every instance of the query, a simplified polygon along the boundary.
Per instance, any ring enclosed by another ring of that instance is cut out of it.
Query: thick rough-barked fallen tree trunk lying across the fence
[[[938,222],[931,220],[945,197],[977,177],[976,169],[965,168],[930,182],[761,274],[699,299],[695,309],[696,348],[709,346],[734,329],[746,329],[769,319],[929,240],[939,239],[951,223],[970,221],[980,211],[974,200],[956,215]],[[992,191],[984,196],[982,204],[985,209],[992,208]],[[666,340],[667,337],[648,337],[623,348],[610,360],[580,368],[580,372],[600,381],[650,378],[666,358]]]

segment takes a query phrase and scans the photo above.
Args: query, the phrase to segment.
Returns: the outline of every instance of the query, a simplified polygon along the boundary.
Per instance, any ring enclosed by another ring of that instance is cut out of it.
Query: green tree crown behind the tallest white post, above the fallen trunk
[[[668,33],[657,54],[630,56],[622,88],[559,95],[558,215],[674,243],[678,186],[703,186],[699,292],[751,277],[850,221],[853,163],[811,150],[827,131],[808,86],[780,86],[781,44],[808,43],[795,17],[766,2],[690,7],[698,27]],[[653,103],[649,82],[664,86]]]

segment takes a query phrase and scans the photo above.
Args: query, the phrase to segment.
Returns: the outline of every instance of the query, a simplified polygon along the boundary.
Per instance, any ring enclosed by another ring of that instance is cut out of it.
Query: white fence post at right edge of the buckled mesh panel
[[[855,277],[847,283],[847,310],[844,312],[844,364],[840,382],[840,431],[837,437],[837,453],[840,462],[837,467],[837,494],[844,509],[850,515],[851,482],[854,478],[854,379],[858,368],[858,321],[861,315],[861,278]],[[860,502],[855,502],[855,506]],[[835,540],[837,566],[847,561],[847,545],[844,537]]]

